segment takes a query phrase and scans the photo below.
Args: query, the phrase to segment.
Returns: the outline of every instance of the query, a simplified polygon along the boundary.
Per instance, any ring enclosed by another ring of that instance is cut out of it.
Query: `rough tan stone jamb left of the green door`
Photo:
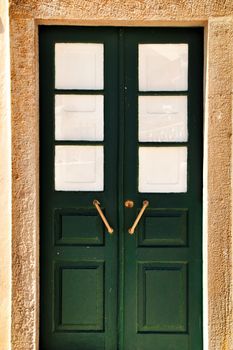
[[[38,91],[33,20],[11,20],[13,140],[12,348],[33,349],[38,319]],[[23,34],[23,35],[22,35]],[[27,214],[26,214],[27,213]]]

